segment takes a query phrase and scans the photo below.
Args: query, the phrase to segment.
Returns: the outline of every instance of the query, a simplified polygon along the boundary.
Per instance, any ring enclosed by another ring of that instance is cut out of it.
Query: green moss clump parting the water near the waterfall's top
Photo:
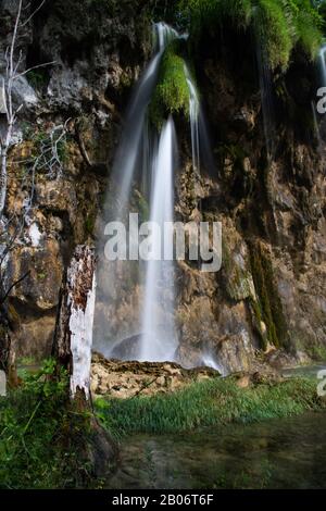
[[[163,57],[159,80],[149,108],[151,122],[162,127],[168,114],[189,117],[189,88],[185,73],[185,61],[178,54],[178,41],[171,42]]]

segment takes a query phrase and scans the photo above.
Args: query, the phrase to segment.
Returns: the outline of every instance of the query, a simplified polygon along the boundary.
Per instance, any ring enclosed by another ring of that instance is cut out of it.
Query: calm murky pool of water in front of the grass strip
[[[113,489],[326,488],[326,414],[124,440]]]

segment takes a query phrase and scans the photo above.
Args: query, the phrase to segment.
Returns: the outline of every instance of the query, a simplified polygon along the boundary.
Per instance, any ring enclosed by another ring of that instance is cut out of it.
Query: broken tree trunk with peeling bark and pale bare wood
[[[78,246],[63,279],[53,356],[71,375],[71,394],[89,398],[92,325],[95,313],[95,253]]]

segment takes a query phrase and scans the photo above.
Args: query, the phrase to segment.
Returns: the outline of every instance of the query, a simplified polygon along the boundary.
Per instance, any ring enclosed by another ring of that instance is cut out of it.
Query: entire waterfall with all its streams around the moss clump
[[[177,360],[175,328],[175,265],[162,257],[173,239],[162,236],[164,223],[174,220],[174,174],[177,141],[172,116],[161,133],[152,127],[148,108],[168,42],[186,38],[164,23],[154,26],[155,54],[149,63],[128,111],[126,127],[113,165],[100,229],[105,223],[125,223],[129,212],[139,213],[135,197],[148,202],[150,258],[142,261],[109,261],[100,247],[95,348],[106,357],[139,361]],[[211,165],[210,144],[197,87],[186,63],[189,89],[193,178],[200,182],[200,154]],[[141,190],[141,192],[140,192]],[[109,211],[109,213],[108,213]],[[200,214],[198,215],[200,221]],[[151,226],[161,227],[160,233]],[[99,236],[102,238],[101,234]],[[155,254],[153,257],[153,254]],[[199,267],[200,271],[200,267]],[[211,360],[211,359],[210,359]],[[213,360],[213,359],[212,359]],[[212,362],[213,364],[213,362]],[[210,365],[212,365],[210,364]]]

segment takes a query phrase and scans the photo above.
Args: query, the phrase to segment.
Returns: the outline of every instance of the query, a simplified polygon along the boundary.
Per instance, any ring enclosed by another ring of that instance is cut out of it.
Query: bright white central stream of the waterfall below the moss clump
[[[153,164],[150,222],[161,227],[151,233],[153,258],[148,261],[142,316],[140,360],[174,360],[174,263],[164,261],[164,222],[174,216],[174,166],[176,136],[172,117],[163,126]],[[166,241],[166,240],[165,240]]]

